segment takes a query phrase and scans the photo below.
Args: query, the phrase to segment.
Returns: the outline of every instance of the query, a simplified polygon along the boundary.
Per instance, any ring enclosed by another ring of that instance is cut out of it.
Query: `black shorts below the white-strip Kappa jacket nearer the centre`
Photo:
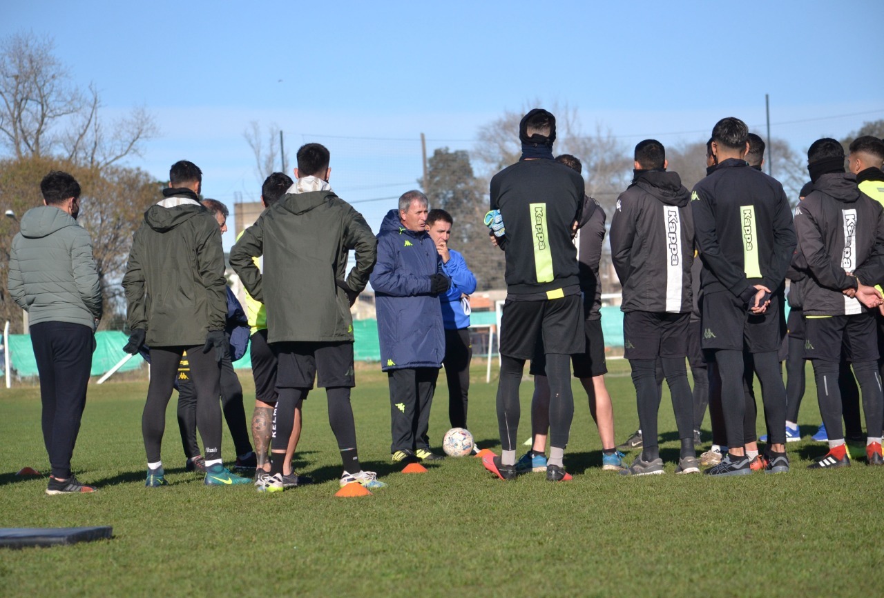
[[[623,357],[656,360],[688,356],[690,312],[626,312],[623,314]]]

